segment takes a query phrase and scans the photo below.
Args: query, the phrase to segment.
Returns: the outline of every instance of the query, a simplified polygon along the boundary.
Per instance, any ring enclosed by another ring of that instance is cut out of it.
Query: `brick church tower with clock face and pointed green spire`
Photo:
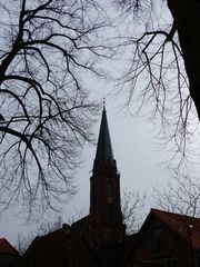
[[[112,152],[104,107],[90,178],[89,221],[91,245],[118,240],[126,235],[120,204],[120,175]]]

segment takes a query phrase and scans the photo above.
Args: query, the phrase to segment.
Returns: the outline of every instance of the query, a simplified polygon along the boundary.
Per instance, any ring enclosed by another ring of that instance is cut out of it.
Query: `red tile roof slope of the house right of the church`
[[[193,218],[158,209],[151,209],[151,212],[171,230],[176,231],[180,238],[192,245],[194,249],[200,248],[200,218]]]

